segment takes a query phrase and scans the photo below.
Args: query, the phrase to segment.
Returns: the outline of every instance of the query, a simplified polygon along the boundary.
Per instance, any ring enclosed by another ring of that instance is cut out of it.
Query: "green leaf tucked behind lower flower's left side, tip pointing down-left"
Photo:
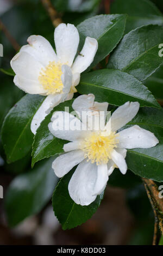
[[[37,161],[45,159],[49,156],[54,156],[55,154],[64,151],[63,147],[66,141],[54,137],[48,129],[48,124],[51,122],[52,114],[54,111],[65,111],[65,107],[69,107],[69,111],[72,112],[72,103],[73,100],[60,103],[60,105],[54,107],[53,111],[49,113],[42,121],[34,137],[32,151],[32,167]]]

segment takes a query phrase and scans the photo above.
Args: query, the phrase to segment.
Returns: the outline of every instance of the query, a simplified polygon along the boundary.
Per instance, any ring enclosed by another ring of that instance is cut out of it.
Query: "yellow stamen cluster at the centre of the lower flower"
[[[91,160],[91,163],[102,164],[108,163],[111,159],[111,151],[117,148],[117,134],[110,132],[109,135],[104,132],[92,132],[88,138],[85,138],[81,144],[81,149],[85,152],[85,158],[87,161]]]

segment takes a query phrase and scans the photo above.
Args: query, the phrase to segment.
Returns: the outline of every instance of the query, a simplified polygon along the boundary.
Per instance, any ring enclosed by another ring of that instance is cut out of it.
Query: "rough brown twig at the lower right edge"
[[[158,186],[153,180],[146,178],[143,178],[142,180],[145,184],[147,196],[155,216],[153,245],[157,245],[159,242],[159,230],[161,235],[163,235],[163,200],[159,198]]]

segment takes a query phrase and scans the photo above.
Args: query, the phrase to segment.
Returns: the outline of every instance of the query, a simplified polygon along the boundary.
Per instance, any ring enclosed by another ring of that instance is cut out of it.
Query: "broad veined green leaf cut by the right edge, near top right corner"
[[[109,58],[108,68],[122,70],[143,81],[163,63],[163,58],[159,57],[162,41],[162,26],[137,28],[124,36]]]

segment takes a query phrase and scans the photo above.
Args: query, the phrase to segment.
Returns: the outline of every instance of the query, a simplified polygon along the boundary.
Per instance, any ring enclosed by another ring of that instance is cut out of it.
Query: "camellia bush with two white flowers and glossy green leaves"
[[[163,6],[115,0],[109,12],[101,1],[37,2],[30,5],[47,15],[48,32],[37,21],[37,35],[22,35],[27,43],[20,40],[10,67],[1,66],[10,76],[1,94],[2,156],[18,166],[5,195],[10,227],[52,198],[62,229],[71,229],[95,214],[107,185],[131,193],[144,184],[156,220],[153,243],[161,243]],[[3,111],[5,90],[13,101]],[[102,112],[104,127],[96,130]]]

